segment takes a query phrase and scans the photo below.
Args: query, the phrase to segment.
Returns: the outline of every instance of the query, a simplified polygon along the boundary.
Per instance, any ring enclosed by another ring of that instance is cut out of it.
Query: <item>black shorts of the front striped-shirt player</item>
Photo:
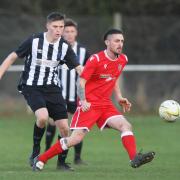
[[[54,121],[68,118],[66,102],[58,86],[23,86],[22,94],[33,112],[47,108]]]

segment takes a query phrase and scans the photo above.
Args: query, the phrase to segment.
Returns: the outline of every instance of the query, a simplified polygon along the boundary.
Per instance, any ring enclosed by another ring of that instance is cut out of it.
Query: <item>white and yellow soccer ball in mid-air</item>
[[[160,117],[168,122],[174,122],[180,117],[180,105],[174,100],[166,100],[159,107]]]

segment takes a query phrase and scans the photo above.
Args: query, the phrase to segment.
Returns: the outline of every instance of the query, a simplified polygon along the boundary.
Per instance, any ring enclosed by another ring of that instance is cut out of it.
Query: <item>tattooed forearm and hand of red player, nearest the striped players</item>
[[[91,106],[91,104],[86,100],[85,86],[86,80],[79,77],[77,80],[77,95],[81,102],[82,111],[88,111]]]

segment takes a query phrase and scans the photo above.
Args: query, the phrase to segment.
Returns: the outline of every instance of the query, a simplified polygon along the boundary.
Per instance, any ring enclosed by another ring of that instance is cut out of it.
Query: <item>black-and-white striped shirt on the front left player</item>
[[[46,33],[32,35],[15,52],[25,58],[20,83],[29,86],[59,85],[59,65],[65,63],[69,69],[79,65],[76,54],[62,37],[49,43]]]

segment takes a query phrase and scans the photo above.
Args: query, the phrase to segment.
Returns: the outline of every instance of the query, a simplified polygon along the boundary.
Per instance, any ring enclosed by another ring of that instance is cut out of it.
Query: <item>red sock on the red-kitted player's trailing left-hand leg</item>
[[[43,154],[41,154],[38,157],[39,161],[42,161],[44,163],[46,163],[49,159],[51,159],[52,157],[56,156],[57,154],[61,154],[63,152],[63,149],[61,147],[61,143],[58,140],[53,146],[51,146],[46,152],[44,152]]]

